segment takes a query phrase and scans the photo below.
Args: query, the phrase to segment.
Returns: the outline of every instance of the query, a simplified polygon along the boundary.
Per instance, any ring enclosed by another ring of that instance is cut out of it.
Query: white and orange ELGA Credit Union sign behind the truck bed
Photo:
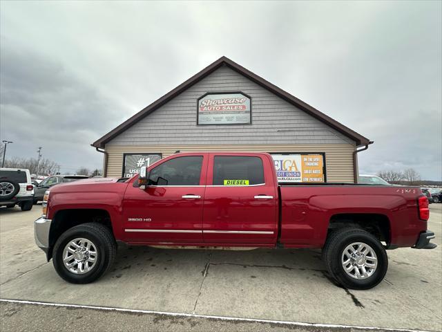
[[[323,154],[272,154],[278,182],[325,182]]]

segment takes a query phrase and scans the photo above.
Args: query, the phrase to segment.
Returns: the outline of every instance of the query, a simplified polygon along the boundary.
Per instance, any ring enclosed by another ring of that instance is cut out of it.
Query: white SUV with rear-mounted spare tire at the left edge
[[[29,169],[0,168],[0,206],[14,208],[19,205],[21,211],[32,209],[34,185]]]

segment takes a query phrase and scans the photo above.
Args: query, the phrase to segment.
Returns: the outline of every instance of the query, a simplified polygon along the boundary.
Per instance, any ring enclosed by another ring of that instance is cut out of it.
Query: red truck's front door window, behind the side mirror
[[[201,167],[202,156],[167,160],[151,170],[148,185],[199,185]]]

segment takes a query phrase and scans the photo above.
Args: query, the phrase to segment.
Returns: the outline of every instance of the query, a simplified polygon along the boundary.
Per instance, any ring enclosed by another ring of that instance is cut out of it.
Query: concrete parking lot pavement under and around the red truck
[[[97,330],[113,326],[115,331],[354,330],[348,326],[442,331],[442,204],[432,204],[430,210],[428,228],[436,233],[438,248],[390,250],[385,280],[369,291],[349,291],[329,282],[319,250],[122,246],[111,273],[93,284],[68,284],[35,246],[33,221],[41,207],[35,205],[29,212],[3,208],[1,299],[140,311],[96,315],[99,308],[0,302],[1,331],[29,331],[32,327],[61,331],[91,322]],[[258,321],[225,321],[222,317]]]

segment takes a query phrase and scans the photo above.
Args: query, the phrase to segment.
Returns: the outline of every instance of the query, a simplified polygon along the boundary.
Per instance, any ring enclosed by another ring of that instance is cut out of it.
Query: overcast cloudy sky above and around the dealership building
[[[360,170],[442,178],[441,1],[1,1],[1,140],[63,172],[222,55],[374,140]]]

